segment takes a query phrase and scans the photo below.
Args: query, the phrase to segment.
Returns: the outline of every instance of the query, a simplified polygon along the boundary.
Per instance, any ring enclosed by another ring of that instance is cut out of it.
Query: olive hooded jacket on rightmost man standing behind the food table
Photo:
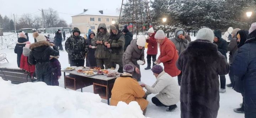
[[[110,53],[110,61],[122,63],[122,57],[124,53],[124,35],[119,30],[118,26],[116,27],[118,34],[113,34],[112,30],[110,30],[110,37],[107,41],[110,43],[110,48],[112,49],[112,52]]]

